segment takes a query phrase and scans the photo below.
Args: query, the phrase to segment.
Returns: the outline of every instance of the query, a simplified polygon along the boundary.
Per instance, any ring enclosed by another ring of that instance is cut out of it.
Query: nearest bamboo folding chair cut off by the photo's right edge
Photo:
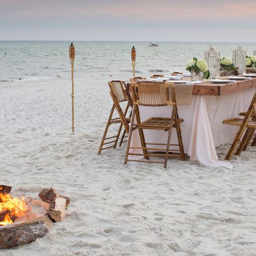
[[[248,108],[248,111],[246,113],[242,112],[240,114],[244,115],[244,119],[233,117],[222,122],[223,124],[240,126],[238,132],[236,133],[236,137],[228,151],[228,154],[225,157],[225,160],[231,160],[234,153],[240,156],[241,152],[247,148],[250,140],[252,139],[256,129],[256,93],[252,98],[252,102]],[[252,142],[252,144],[253,143],[254,142]]]

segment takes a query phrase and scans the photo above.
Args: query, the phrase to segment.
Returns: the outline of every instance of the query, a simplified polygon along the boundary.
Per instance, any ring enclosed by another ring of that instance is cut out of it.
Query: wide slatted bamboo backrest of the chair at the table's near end
[[[173,83],[138,81],[132,83],[133,104],[148,107],[176,105]]]

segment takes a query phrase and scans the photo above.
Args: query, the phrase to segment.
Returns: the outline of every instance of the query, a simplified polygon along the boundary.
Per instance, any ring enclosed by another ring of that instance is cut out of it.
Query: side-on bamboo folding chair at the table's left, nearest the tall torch
[[[116,148],[116,145],[117,145],[117,142],[118,142],[118,139],[120,136],[120,132],[121,132],[123,126],[124,126],[124,133],[123,133],[123,136],[121,137],[119,145],[121,146],[123,142],[127,142],[127,141],[124,141],[124,138],[128,137],[128,136],[125,136],[125,133],[127,133],[127,134],[129,133],[129,122],[131,120],[130,117],[128,117],[128,118],[126,117],[126,114],[128,112],[129,107],[132,107],[133,103],[132,103],[132,97],[131,97],[130,93],[127,92],[125,82],[124,81],[111,81],[111,82],[108,82],[108,86],[110,88],[110,95],[113,100],[113,106],[112,106],[112,109],[111,109],[111,112],[110,112],[110,115],[108,118],[108,122],[107,122],[107,125],[105,128],[104,134],[103,134],[103,138],[100,143],[100,149],[98,151],[98,155],[100,155],[101,151],[104,149]],[[127,102],[124,112],[120,106],[120,102]],[[115,109],[118,112],[119,118],[112,118]],[[108,128],[112,124],[120,124],[117,135],[106,138]],[[108,141],[108,140],[114,139],[114,138],[115,138],[115,140]],[[107,142],[105,142],[105,140],[107,140]],[[112,146],[103,148],[104,145],[112,144],[112,143],[114,143]]]

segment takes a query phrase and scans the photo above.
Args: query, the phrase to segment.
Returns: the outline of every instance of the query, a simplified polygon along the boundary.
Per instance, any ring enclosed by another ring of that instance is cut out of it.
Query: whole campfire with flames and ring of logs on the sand
[[[63,221],[70,199],[53,188],[40,199],[13,197],[12,187],[0,185],[0,248],[12,248],[45,236],[54,222]]]

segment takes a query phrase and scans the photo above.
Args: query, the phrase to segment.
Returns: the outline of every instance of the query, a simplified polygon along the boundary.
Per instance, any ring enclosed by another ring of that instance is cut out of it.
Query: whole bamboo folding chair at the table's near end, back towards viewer
[[[130,123],[131,128],[128,136],[128,144],[127,144],[127,151],[126,151],[124,164],[127,164],[128,161],[149,162],[149,163],[164,164],[164,168],[166,168],[169,156],[180,156],[182,160],[185,160],[183,142],[182,142],[181,131],[180,131],[180,123],[183,122],[184,120],[179,119],[179,116],[178,116],[174,84],[166,83],[166,82],[153,82],[153,81],[139,81],[135,83],[133,82],[132,83],[132,100],[133,100],[133,111],[132,111],[132,119]],[[139,106],[159,107],[159,106],[169,106],[169,105],[172,106],[171,118],[150,117],[143,122],[140,121]],[[136,116],[137,124],[134,124],[135,116]],[[179,144],[170,144],[172,128],[176,128],[177,130]],[[138,129],[139,131],[141,147],[130,147],[132,132],[136,129]],[[167,143],[166,144],[146,143],[143,129],[164,130],[166,132],[168,131]],[[161,146],[165,146],[166,148],[154,148],[153,145],[161,145]],[[179,149],[169,149],[170,146],[179,146]],[[130,149],[142,149],[143,154],[130,153]],[[158,153],[159,151],[160,153]],[[130,155],[144,156],[145,160],[128,159],[128,156]],[[164,162],[151,161],[149,160],[149,156],[164,156],[165,160]]]

